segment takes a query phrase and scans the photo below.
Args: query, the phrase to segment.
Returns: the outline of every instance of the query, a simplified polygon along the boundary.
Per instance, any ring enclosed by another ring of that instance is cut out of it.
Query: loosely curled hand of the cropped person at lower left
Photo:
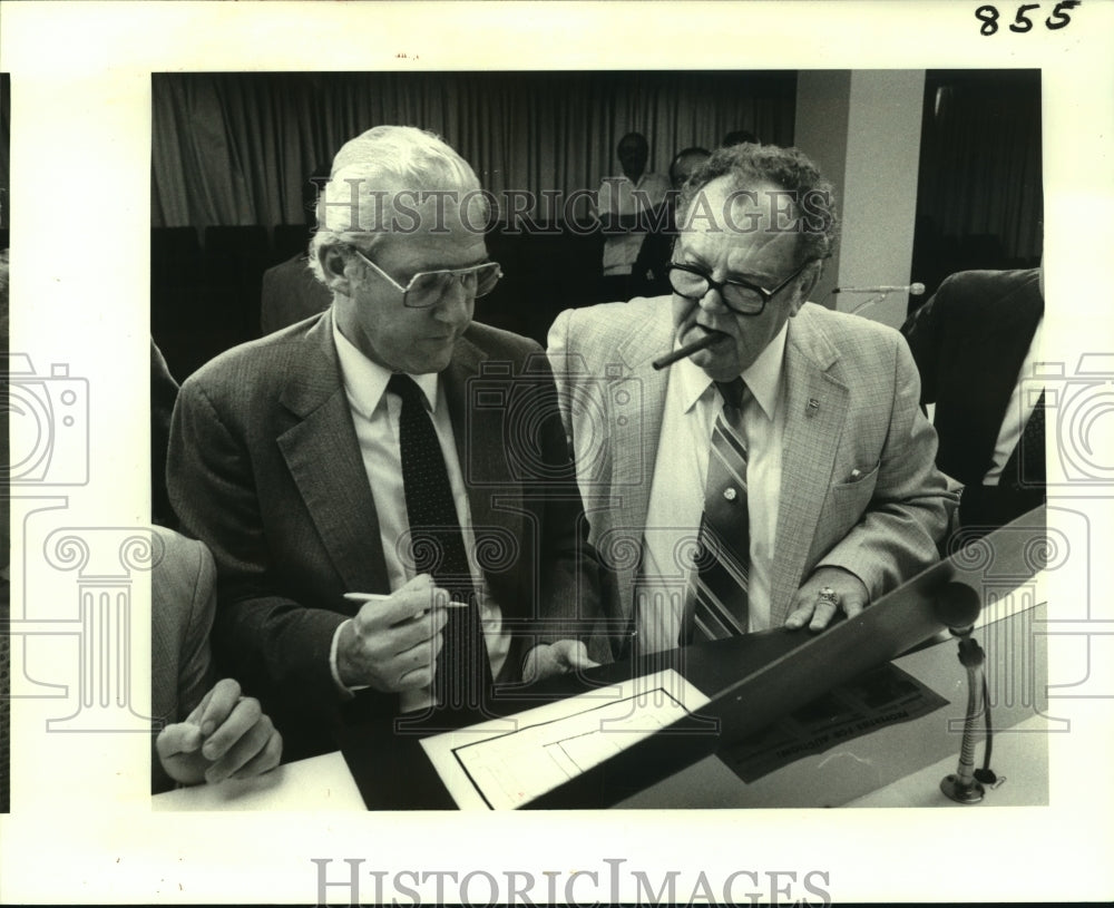
[[[172,779],[195,785],[273,770],[282,759],[282,735],[260,702],[241,696],[240,684],[226,677],[213,685],[185,722],[159,732],[155,750]]]

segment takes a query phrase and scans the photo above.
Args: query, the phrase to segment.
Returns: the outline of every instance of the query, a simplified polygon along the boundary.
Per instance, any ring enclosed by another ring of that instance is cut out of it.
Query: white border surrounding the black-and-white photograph
[[[1069,369],[1083,353],[1114,361],[1105,299],[1114,4],[1088,0],[1056,31],[1003,28],[994,36],[979,33],[980,6],[3,3],[0,69],[11,74],[12,98],[11,349],[27,352],[39,370],[61,363],[70,379],[86,381],[90,414],[89,481],[45,488],[36,507],[63,510],[59,527],[146,521],[152,72],[1039,68],[1049,349],[1063,351]],[[1007,8],[1017,3],[996,6],[1005,26],[1013,18]],[[1042,2],[1036,14],[1054,6]],[[1100,436],[1107,452],[1114,450],[1108,428]],[[1071,583],[1051,586],[1049,601],[1072,604],[1075,615],[1092,590],[1092,625],[1081,633],[1097,628],[1089,652],[1101,657],[1105,646],[1108,656],[1102,553],[1112,550],[1114,489],[1084,485],[1065,495],[1089,521],[1091,557]],[[20,538],[12,556],[14,612],[28,578],[49,572],[42,549],[23,550]],[[70,587],[53,583],[72,599],[71,579]],[[42,595],[51,588],[45,579]],[[141,627],[148,598],[134,590],[133,619]],[[59,617],[72,617],[67,609],[58,606]],[[48,642],[76,664],[72,635]],[[1049,660],[1051,683],[1085,673],[1055,648]],[[143,646],[133,664],[141,692],[140,666],[149,664]],[[13,677],[12,693],[23,683]],[[1049,807],[974,808],[962,819],[949,810],[158,813],[149,807],[145,736],[47,733],[57,703],[28,696],[12,702],[12,811],[0,817],[0,901],[306,902],[319,895],[313,859],[332,859],[333,877],[343,876],[345,859],[388,873],[532,873],[538,901],[546,871],[565,875],[560,897],[577,871],[603,879],[605,859],[624,859],[654,880],[668,869],[688,880],[743,870],[765,875],[769,886],[771,871],[798,881],[823,872],[822,881],[813,878],[817,888],[837,902],[1105,898],[1114,891],[1106,769],[1114,684],[1107,677],[1095,690],[1092,699],[1061,701],[1072,733],[1049,741]],[[137,709],[144,705],[140,695]],[[370,901],[373,878],[364,879]],[[583,883],[575,891],[592,899],[593,887]],[[607,898],[603,883],[595,891]],[[476,892],[486,892],[479,882]],[[799,887],[795,896],[810,898]],[[346,902],[348,892],[331,890],[330,898]]]

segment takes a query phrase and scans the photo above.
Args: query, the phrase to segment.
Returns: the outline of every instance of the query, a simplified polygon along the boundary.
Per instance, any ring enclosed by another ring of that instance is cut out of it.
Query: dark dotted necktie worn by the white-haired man
[[[409,375],[395,373],[387,390],[402,398],[399,452],[414,572],[430,574],[453,602],[468,603],[467,608],[448,609],[433,692],[443,707],[480,710],[491,684],[491,666],[449,471],[421,389]]]

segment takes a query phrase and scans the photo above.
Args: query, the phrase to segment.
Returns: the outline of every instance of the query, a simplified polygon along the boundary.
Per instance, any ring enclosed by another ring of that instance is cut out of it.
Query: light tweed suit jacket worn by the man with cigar
[[[589,540],[610,568],[602,615],[617,655],[633,624],[670,375],[651,361],[672,343],[665,296],[569,310],[549,334]],[[818,567],[850,570],[874,599],[937,560],[957,500],[934,465],[936,433],[918,408],[917,369],[898,332],[805,303],[789,322],[783,370],[774,623]]]

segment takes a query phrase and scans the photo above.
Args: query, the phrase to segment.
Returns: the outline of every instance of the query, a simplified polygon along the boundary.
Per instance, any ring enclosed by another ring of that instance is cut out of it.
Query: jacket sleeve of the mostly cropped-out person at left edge
[[[154,527],[162,548],[150,578],[152,790],[174,782],[155,752],[155,735],[180,722],[215,682],[209,629],[216,611],[216,568],[204,544]],[[160,544],[160,545],[159,545]]]

